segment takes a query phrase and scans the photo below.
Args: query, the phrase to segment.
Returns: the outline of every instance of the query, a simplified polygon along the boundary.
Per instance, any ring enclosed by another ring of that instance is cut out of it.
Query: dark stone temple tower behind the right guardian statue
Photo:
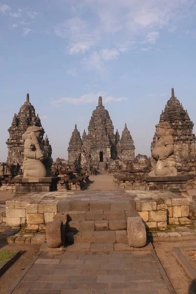
[[[174,133],[174,154],[178,171],[196,171],[196,136],[193,134],[194,123],[190,120],[187,110],[174,95],[162,110],[160,123],[169,122]]]

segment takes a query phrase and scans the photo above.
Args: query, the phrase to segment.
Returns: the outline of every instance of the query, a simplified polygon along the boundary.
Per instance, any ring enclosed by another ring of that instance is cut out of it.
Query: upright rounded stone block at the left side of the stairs
[[[49,248],[58,248],[63,245],[65,242],[65,229],[62,221],[47,223],[46,241]]]

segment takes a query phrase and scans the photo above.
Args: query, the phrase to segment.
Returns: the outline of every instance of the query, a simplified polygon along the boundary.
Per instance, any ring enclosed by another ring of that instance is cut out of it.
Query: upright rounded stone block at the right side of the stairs
[[[144,247],[147,233],[141,217],[127,218],[127,239],[131,247]]]

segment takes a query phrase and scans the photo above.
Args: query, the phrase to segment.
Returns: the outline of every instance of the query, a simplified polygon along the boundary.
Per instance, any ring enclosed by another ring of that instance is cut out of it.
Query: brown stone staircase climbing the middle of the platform
[[[66,243],[127,244],[127,217],[139,216],[133,200],[73,201],[58,204],[54,221],[65,223]]]

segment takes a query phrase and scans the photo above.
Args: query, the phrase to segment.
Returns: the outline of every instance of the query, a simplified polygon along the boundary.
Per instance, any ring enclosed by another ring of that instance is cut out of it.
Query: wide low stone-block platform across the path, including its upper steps
[[[114,235],[116,232],[115,238],[113,236],[116,240],[117,234],[126,232],[126,219],[133,211],[141,216],[147,230],[163,231],[169,224],[191,223],[189,199],[164,190],[56,191],[28,194],[17,197],[17,200],[6,201],[6,223],[8,226],[43,231],[49,221],[68,221],[73,228],[70,231],[109,230],[113,231],[109,234]],[[75,238],[79,238],[79,235],[81,234],[76,234]]]

